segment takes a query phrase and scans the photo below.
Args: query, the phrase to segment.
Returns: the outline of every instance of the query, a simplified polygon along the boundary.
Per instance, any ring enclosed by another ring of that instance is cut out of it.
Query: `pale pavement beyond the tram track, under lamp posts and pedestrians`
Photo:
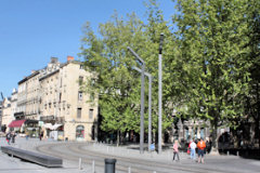
[[[260,170],[260,161],[252,159],[244,159],[237,156],[210,156],[205,155],[205,163],[197,163],[190,158],[186,152],[180,151],[180,162],[172,161],[172,149],[165,149],[160,155],[157,152],[150,154],[145,151],[140,154],[138,145],[113,147],[104,144],[93,144],[84,147],[86,149],[94,150],[101,154],[108,154],[112,156],[143,159],[147,161],[161,162],[166,164],[178,164],[182,168],[203,169],[205,172],[234,172],[234,173],[258,173]],[[131,149],[134,148],[134,149]]]

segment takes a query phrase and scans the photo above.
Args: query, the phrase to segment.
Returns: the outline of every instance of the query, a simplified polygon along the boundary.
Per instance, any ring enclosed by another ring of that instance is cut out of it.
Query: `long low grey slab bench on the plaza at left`
[[[14,148],[14,147],[10,147],[10,146],[2,146],[1,150],[2,150],[2,152],[5,152],[13,157],[17,157],[23,160],[35,162],[35,163],[38,163],[40,165],[44,165],[48,168],[57,168],[57,167],[62,167],[62,164],[63,164],[62,159],[42,155],[42,154],[38,154],[38,152],[32,152],[29,150]]]

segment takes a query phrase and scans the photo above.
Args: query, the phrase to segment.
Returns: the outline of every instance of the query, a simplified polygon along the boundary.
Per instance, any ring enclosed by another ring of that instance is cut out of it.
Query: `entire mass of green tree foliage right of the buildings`
[[[171,22],[165,21],[156,0],[150,0],[146,9],[146,21],[115,12],[98,35],[89,23],[83,27],[81,55],[86,69],[96,75],[94,84],[90,79],[84,89],[99,93],[102,129],[140,131],[140,74],[132,69],[139,64],[127,46],[145,61],[145,70],[154,77],[157,127],[161,32],[164,129],[171,127],[173,110],[179,117],[209,120],[214,139],[219,127],[239,125],[249,111],[246,105],[259,103],[259,1],[178,0]],[[255,110],[259,120],[259,106],[250,109]]]

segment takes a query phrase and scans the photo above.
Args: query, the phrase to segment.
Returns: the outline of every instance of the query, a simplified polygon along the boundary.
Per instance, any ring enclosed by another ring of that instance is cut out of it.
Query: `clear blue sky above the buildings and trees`
[[[98,30],[117,10],[145,17],[144,0],[0,0],[0,92],[10,96],[17,82],[50,58],[79,59],[81,28],[90,22]],[[167,19],[174,13],[171,0],[158,0]],[[1,97],[0,97],[1,99]]]

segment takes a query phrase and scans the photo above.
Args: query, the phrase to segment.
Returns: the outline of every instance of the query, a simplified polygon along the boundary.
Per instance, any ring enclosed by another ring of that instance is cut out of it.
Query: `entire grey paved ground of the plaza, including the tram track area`
[[[61,144],[61,145],[60,145]],[[95,152],[96,156],[107,156],[109,158],[116,158],[117,164],[126,168],[134,167],[134,161],[140,162],[142,165],[142,161],[144,162],[151,162],[151,173],[166,173],[169,172],[169,168],[172,169],[172,172],[229,172],[229,173],[248,173],[248,172],[259,172],[260,170],[260,161],[259,160],[251,160],[251,159],[244,159],[237,156],[209,156],[206,155],[205,157],[205,164],[197,163],[195,161],[192,161],[185,152],[180,152],[181,161],[176,162],[172,161],[172,150],[166,149],[162,150],[161,155],[158,155],[157,152],[150,154],[145,151],[144,154],[140,154],[138,145],[128,145],[128,146],[109,146],[106,144],[94,144],[94,143],[72,143],[72,142],[52,142],[52,141],[39,141],[38,138],[29,138],[26,141],[24,137],[17,137],[16,143],[12,144],[12,146],[27,149],[27,150],[37,150],[37,147],[39,146],[53,146],[53,150],[62,151],[66,146],[73,147],[80,144],[82,147],[82,150]],[[5,138],[0,138],[0,145],[6,146]],[[68,147],[68,148],[69,148]],[[51,148],[51,147],[50,147]],[[54,154],[54,151],[50,151],[50,154]],[[66,148],[64,149],[64,152],[66,152],[67,159],[63,159],[63,168],[55,168],[55,169],[48,169],[44,167],[41,167],[39,164],[35,164],[31,162],[22,161],[18,158],[12,158],[8,155],[0,152],[0,173],[35,173],[35,172],[47,172],[47,173],[92,173],[92,167],[91,163],[84,163],[82,162],[82,169],[79,169],[79,161],[77,160],[77,157],[80,158],[80,154],[74,154],[72,151],[72,155],[69,155],[68,150]],[[55,155],[54,155],[55,156]],[[74,158],[74,159],[73,159]],[[75,159],[76,158],[76,159]],[[121,161],[123,158],[129,159],[129,164],[127,161]],[[103,162],[103,158],[100,159],[100,162]],[[93,159],[94,161],[94,159]],[[161,165],[161,169],[153,170],[153,164]],[[147,165],[144,165],[147,167]],[[165,169],[164,169],[165,168]],[[133,169],[132,169],[133,170]],[[104,164],[98,164],[95,165],[95,172],[96,173],[103,173],[104,172]],[[128,171],[120,171],[117,170],[117,173],[128,172]],[[134,172],[134,171],[132,171]],[[171,172],[171,171],[170,171]]]

